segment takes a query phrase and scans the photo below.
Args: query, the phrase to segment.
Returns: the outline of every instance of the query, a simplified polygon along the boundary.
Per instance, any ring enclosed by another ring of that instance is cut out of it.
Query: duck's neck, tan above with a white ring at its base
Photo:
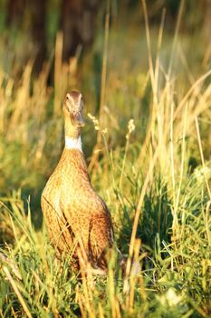
[[[72,125],[71,120],[64,123],[65,149],[76,149],[82,152],[81,129]]]

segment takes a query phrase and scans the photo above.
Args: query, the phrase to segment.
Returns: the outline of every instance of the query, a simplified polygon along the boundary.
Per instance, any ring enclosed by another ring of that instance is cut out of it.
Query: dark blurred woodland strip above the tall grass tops
[[[62,33],[63,63],[68,64],[75,55],[81,59],[88,53],[101,55],[102,46],[99,44],[97,47],[97,42],[103,37],[106,14],[110,14],[112,35],[118,36],[116,45],[123,45],[124,42],[139,45],[144,28],[139,0],[1,0],[0,5],[1,46],[4,47],[1,61],[5,72],[13,72],[13,75],[21,72],[29,59],[33,60],[35,75],[42,71],[44,62],[51,60],[53,67],[58,32]],[[149,25],[158,27],[165,9],[165,31],[167,35],[174,33],[181,1],[149,0],[147,5]],[[180,35],[189,37],[187,45],[194,44],[196,35],[201,37],[198,49],[209,45],[210,1],[185,0],[183,10]],[[132,62],[136,53],[130,52],[130,55]]]

